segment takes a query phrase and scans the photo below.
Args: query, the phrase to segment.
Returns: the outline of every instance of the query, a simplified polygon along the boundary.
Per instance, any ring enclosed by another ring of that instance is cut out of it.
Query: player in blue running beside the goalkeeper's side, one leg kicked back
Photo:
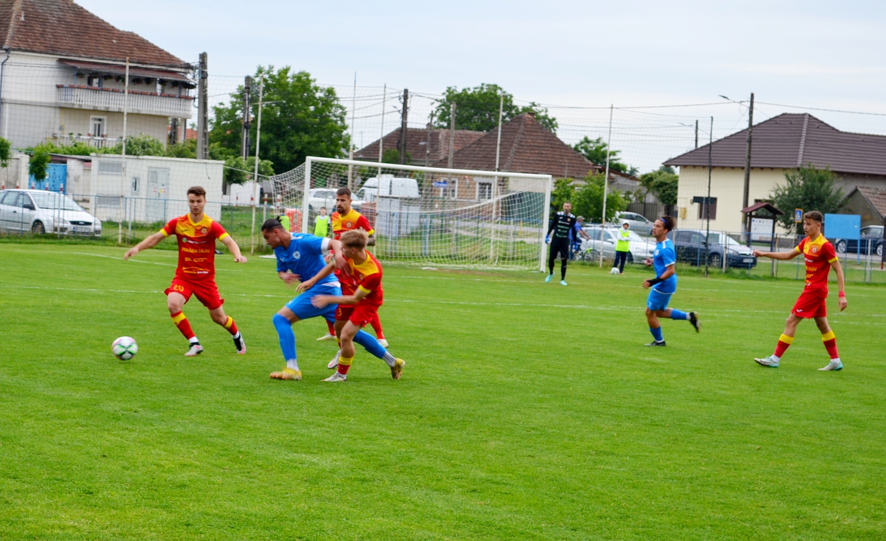
[[[676,308],[668,308],[671,296],[677,292],[677,252],[673,249],[673,241],[667,234],[673,229],[674,220],[671,216],[664,216],[656,220],[652,226],[652,236],[656,237],[656,251],[652,259],[647,258],[644,263],[656,270],[656,277],[644,280],[643,287],[651,288],[649,298],[646,300],[646,320],[649,321],[649,332],[654,340],[646,345],[665,345],[662,336],[662,326],[658,318],[672,320],[688,320],[696,332],[701,329],[697,312],[682,312]]]

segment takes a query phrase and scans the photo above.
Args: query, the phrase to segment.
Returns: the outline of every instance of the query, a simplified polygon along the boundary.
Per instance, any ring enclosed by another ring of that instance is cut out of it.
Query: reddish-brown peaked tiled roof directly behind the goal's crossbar
[[[455,152],[453,166],[460,169],[495,170],[498,130],[486,132],[474,143]],[[587,158],[541,126],[530,113],[517,115],[501,126],[500,171],[551,174],[556,177],[584,178],[595,168]],[[434,166],[447,165],[447,159]]]

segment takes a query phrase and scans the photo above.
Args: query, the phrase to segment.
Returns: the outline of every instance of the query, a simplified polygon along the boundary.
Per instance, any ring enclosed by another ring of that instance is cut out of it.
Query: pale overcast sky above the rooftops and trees
[[[273,64],[344,87],[356,71],[361,87],[424,93],[494,82],[519,100],[572,106],[725,102],[719,95],[754,91],[767,103],[755,120],[803,112],[769,104],[886,113],[882,2],[77,2],[185,60],[206,51],[212,75]],[[744,111],[678,114],[714,115],[717,137],[741,128]],[[810,112],[886,134],[886,117]],[[571,124],[598,123],[582,114]]]

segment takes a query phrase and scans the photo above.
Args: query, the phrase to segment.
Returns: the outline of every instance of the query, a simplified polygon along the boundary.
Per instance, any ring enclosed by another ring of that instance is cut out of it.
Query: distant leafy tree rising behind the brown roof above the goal
[[[523,112],[534,112],[535,120],[556,133],[556,119],[548,115],[548,110],[530,102],[528,105],[519,106],[514,104],[514,97],[501,89],[497,84],[482,83],[473,89],[461,89],[447,87],[445,97],[439,100],[434,118],[437,119],[437,128],[449,128],[450,105],[455,103],[455,129],[472,129],[476,131],[491,131],[498,128],[498,112],[501,96],[504,96],[504,105],[501,111],[501,122],[508,122]]]

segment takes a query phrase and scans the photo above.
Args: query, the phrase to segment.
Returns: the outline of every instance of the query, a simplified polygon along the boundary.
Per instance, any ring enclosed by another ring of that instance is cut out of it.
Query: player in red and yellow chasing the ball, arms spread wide
[[[167,236],[178,237],[178,267],[166,294],[172,321],[175,321],[175,326],[182,331],[190,344],[190,349],[184,355],[193,357],[203,352],[203,346],[200,345],[197,336],[194,336],[188,318],[182,313],[182,308],[191,295],[197,297],[209,309],[213,321],[234,337],[237,353],[245,353],[246,344],[243,336],[237,330],[234,319],[224,313],[224,308],[221,307],[224,299],[219,297],[219,290],[215,286],[215,240],[220,240],[228,247],[234,255],[235,262],[245,263],[246,258],[240,254],[240,247],[225,232],[221,224],[203,213],[203,208],[206,206],[205,189],[199,186],[188,189],[188,206],[190,213],[169,220],[157,233],[130,248],[123,259],[129,259],[139,251],[153,248]]]

